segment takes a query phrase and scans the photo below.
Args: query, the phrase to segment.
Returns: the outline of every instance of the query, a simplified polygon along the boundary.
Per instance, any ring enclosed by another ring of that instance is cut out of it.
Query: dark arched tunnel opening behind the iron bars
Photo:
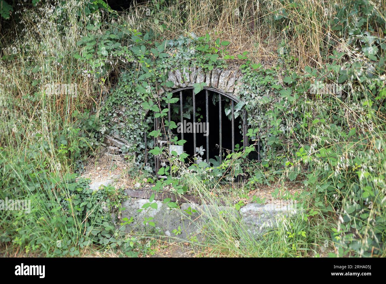
[[[153,139],[152,146],[174,147],[174,150],[188,155],[188,163],[205,162],[210,166],[221,163],[228,153],[248,146],[246,111],[239,107],[236,97],[209,87],[197,94],[194,87],[176,89],[171,93],[178,102],[165,105],[169,109],[165,120],[174,121],[177,128],[170,129],[169,135],[186,142],[183,146],[170,145],[164,135],[164,138]],[[150,131],[161,129],[159,118],[152,117],[150,121],[153,122]],[[149,132],[145,133],[148,139]],[[145,139],[146,149],[147,143]],[[149,158],[146,150],[145,163]],[[159,156],[153,158],[157,173],[165,161]]]

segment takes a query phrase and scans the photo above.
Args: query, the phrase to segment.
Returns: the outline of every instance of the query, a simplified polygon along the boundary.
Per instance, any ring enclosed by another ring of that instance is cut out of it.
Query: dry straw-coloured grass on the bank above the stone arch
[[[230,55],[248,51],[252,61],[265,66],[278,63],[278,47],[283,42],[291,47],[289,54],[298,59],[299,69],[320,67],[324,63],[320,51],[328,51],[326,39],[339,41],[328,22],[336,13],[335,3],[301,0],[297,4],[294,7],[289,0],[181,0],[164,10],[154,9],[153,4],[135,5],[120,14],[119,20],[134,29],[152,28],[163,39],[210,33],[212,39],[230,41]],[[275,20],[283,9],[287,18]],[[163,32],[161,24],[167,27]]]

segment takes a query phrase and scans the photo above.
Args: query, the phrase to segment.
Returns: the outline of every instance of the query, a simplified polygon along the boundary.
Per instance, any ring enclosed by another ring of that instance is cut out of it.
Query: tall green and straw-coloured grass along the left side
[[[69,196],[63,177],[75,166],[71,151],[60,147],[69,149],[84,139],[76,134],[79,121],[73,114],[90,108],[101,89],[72,57],[76,42],[86,35],[76,16],[84,3],[63,2],[65,26],[56,23],[54,8],[46,4],[23,11],[22,31],[8,35],[9,42],[1,46],[3,54],[13,58],[0,62],[0,199],[31,199],[32,206],[29,214],[1,211],[0,241],[11,251],[13,244],[15,251],[39,248],[47,255],[57,240],[76,244],[82,234],[79,224],[69,232],[61,219],[63,209],[54,209],[61,203],[60,194]],[[95,15],[93,20],[100,20]],[[78,96],[46,94],[47,86],[58,83],[79,86]]]

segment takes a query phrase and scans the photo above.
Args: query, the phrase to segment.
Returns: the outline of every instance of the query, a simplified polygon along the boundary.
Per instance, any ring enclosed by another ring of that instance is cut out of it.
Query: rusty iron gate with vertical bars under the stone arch
[[[237,99],[237,97],[233,96],[233,95],[230,95],[230,94],[226,94],[222,91],[219,91],[219,90],[216,90],[214,88],[210,88],[210,87],[204,87],[203,88],[205,90],[205,106],[206,106],[206,109],[205,109],[205,114],[206,114],[206,122],[208,123],[209,122],[209,113],[208,113],[208,92],[213,92],[213,95],[217,94],[218,95],[218,115],[219,115],[219,144],[218,144],[218,148],[219,148],[219,158],[220,158],[220,163],[222,162],[222,102],[221,102],[221,99],[222,99],[222,96],[223,97],[227,97],[231,100],[231,121],[232,121],[232,149],[231,151],[234,152],[234,148],[235,148],[235,126],[234,126],[234,121],[235,121],[235,117],[234,117],[234,107],[235,107],[235,103],[237,104],[239,102],[239,99]],[[181,119],[181,123],[183,124],[183,91],[184,90],[191,90],[191,95],[193,97],[193,125],[195,125],[195,122],[196,122],[196,116],[195,116],[195,113],[196,113],[196,94],[194,92],[194,87],[185,87],[185,88],[178,88],[176,90],[173,90],[171,91],[171,93],[173,94],[176,94],[176,93],[179,93],[179,113],[180,113],[180,119]],[[170,122],[170,103],[168,103],[168,121]],[[159,126],[160,126],[160,121],[159,121],[159,117],[155,118],[154,117],[154,130],[158,130],[159,129]],[[248,138],[247,138],[247,112],[245,109],[243,109],[243,112],[242,112],[242,137],[243,137],[243,147],[244,149],[249,146],[249,141],[248,141]],[[147,132],[145,131],[144,133],[144,137],[145,137],[145,164],[147,163],[147,160],[148,160],[148,151],[147,151]],[[184,131],[181,131],[181,139],[184,139]],[[161,141],[157,138],[153,138],[154,140],[154,147],[155,146],[158,146],[159,148],[161,148],[161,143],[164,143],[165,141]],[[257,159],[260,160],[260,143],[257,143]],[[206,136],[206,152],[207,152],[207,163],[209,163],[209,135]],[[196,155],[196,132],[194,131],[193,132],[193,156]],[[156,170],[156,173],[158,172],[158,170],[161,168],[161,159],[158,157],[158,156],[154,156],[154,165],[155,165],[155,170]]]

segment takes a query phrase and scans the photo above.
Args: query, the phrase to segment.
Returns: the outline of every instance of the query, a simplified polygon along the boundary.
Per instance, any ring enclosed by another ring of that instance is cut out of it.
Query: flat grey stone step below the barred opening
[[[276,227],[277,216],[280,214],[293,214],[294,208],[278,204],[257,204],[249,203],[237,211],[230,206],[213,206],[208,204],[182,203],[178,209],[169,208],[162,201],[152,201],[157,207],[143,209],[144,204],[149,203],[149,199],[129,199],[122,204],[125,208],[122,211],[120,220],[123,218],[134,218],[134,221],[125,225],[126,233],[140,232],[150,233],[156,228],[159,234],[176,237],[180,240],[198,241],[205,238],[205,226],[210,224],[210,219],[225,219],[225,222],[237,222],[246,233],[253,238],[259,238],[262,233],[269,228]],[[154,206],[155,207],[155,206]],[[142,209],[142,211],[140,210]],[[141,212],[138,212],[141,211]],[[155,223],[155,228],[144,223],[144,218],[152,218],[150,222]],[[116,222],[119,220],[115,220]],[[120,227],[119,224],[117,224]],[[173,230],[181,232],[176,234]]]

